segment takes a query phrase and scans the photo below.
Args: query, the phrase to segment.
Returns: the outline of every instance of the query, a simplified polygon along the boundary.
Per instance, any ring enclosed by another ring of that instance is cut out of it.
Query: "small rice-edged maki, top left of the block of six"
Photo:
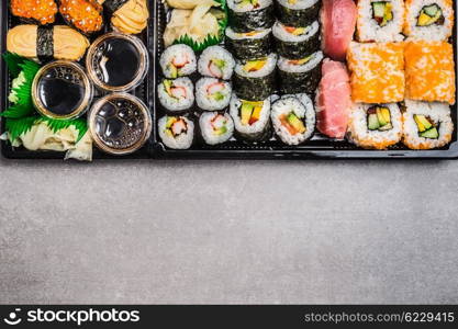
[[[168,47],[160,56],[159,64],[164,76],[170,79],[192,75],[197,69],[194,50],[181,44]]]

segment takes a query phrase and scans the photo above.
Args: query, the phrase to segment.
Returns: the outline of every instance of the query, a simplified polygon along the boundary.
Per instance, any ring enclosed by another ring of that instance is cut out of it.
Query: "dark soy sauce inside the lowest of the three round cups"
[[[96,115],[96,133],[108,147],[126,149],[142,141],[144,122],[137,104],[126,99],[112,99]]]

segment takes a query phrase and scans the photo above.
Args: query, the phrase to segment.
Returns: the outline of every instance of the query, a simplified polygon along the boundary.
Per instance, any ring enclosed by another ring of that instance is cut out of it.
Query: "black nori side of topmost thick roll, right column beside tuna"
[[[277,19],[287,26],[302,27],[309,26],[319,18],[321,1],[317,1],[310,8],[305,9],[289,9],[281,5],[278,1],[276,3]]]

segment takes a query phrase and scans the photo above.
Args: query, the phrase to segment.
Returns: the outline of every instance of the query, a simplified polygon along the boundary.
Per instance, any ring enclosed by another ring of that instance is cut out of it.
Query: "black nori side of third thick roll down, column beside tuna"
[[[286,72],[279,69],[280,92],[283,94],[303,92],[314,94],[321,80],[321,65],[322,63],[303,73]]]

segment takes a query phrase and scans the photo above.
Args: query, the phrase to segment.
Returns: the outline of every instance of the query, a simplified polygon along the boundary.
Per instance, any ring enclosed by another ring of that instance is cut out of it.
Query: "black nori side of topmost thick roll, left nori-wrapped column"
[[[238,33],[270,29],[273,22],[273,4],[246,12],[236,12],[231,8],[228,9],[228,24]]]

